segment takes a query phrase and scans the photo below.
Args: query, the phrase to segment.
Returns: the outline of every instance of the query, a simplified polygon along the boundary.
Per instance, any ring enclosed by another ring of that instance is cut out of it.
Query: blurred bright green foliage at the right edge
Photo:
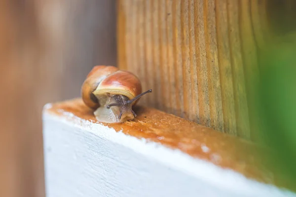
[[[291,38],[291,39],[290,39]],[[268,164],[296,190],[296,34],[280,39],[259,56],[254,83],[259,140],[273,149]]]

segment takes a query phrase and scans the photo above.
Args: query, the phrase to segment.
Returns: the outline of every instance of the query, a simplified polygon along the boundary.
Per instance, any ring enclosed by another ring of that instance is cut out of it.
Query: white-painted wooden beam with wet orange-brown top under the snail
[[[45,105],[46,197],[296,196],[255,144],[156,109],[135,112],[102,124],[81,99]]]

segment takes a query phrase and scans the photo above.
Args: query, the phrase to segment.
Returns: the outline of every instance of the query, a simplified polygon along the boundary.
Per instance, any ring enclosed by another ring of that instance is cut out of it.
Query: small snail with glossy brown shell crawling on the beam
[[[132,106],[152,92],[142,92],[139,78],[115,66],[94,66],[81,86],[81,97],[99,122],[123,123],[137,114]]]

